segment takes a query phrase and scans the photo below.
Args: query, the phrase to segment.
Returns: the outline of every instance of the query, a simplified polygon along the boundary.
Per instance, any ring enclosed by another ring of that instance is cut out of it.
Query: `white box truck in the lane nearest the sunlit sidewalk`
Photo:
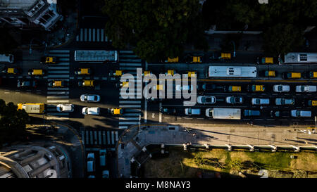
[[[240,108],[207,108],[206,117],[220,120],[241,120]]]

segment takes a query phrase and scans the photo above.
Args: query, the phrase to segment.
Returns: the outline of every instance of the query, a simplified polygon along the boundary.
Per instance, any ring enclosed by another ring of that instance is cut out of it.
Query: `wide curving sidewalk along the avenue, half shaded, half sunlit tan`
[[[306,132],[305,132],[306,131]],[[282,127],[201,127],[187,124],[187,127],[171,124],[147,124],[132,126],[126,129],[118,141],[117,160],[118,175],[130,177],[131,160],[137,161],[137,156],[144,146],[164,143],[165,145],[183,146],[213,146],[223,148],[288,148],[299,151],[301,148],[317,149],[317,134],[308,134],[308,130],[285,129]],[[147,154],[149,155],[149,154]]]

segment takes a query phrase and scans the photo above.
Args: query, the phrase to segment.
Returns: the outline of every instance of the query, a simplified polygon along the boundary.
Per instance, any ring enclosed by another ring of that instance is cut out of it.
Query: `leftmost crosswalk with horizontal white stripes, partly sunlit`
[[[49,64],[47,71],[48,82],[65,80],[69,82],[69,50],[50,50],[49,56],[56,56],[56,64]],[[67,75],[66,75],[67,74]],[[56,106],[60,103],[69,103],[68,87],[47,87],[47,115],[46,120],[68,120],[69,113],[58,112]]]

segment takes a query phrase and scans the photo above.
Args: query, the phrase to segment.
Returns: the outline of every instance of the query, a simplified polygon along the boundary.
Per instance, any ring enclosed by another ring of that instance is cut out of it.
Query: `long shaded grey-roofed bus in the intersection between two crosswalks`
[[[118,62],[118,51],[86,50],[75,51],[75,61],[90,63],[116,63]]]

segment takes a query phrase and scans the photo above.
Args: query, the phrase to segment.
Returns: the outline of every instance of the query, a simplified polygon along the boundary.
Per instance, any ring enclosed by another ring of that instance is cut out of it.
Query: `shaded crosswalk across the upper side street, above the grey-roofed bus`
[[[80,34],[77,34],[76,41],[111,42],[111,39],[108,39],[104,29],[80,28]]]

